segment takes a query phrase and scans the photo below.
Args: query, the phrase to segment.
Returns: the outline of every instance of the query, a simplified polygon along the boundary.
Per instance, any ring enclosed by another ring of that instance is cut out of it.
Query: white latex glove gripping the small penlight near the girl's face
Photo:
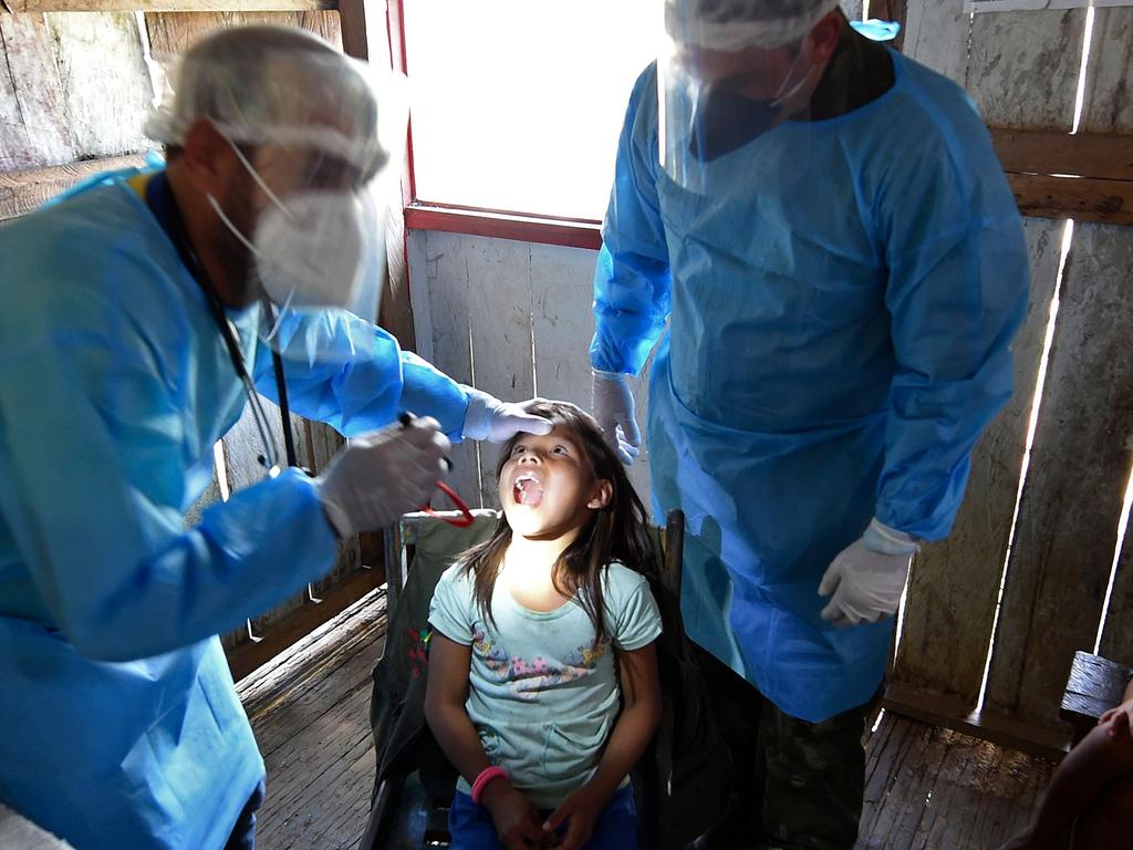
[[[428,501],[449,471],[452,443],[436,419],[414,419],[351,440],[315,478],[341,537],[392,525]]]

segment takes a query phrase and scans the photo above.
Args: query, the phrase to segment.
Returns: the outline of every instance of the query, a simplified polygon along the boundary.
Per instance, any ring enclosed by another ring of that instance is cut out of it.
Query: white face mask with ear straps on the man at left
[[[267,298],[281,307],[352,309],[367,245],[380,239],[375,211],[349,190],[296,192],[284,203],[236,145],[232,150],[271,203],[249,240],[212,195],[208,202],[254,256]]]

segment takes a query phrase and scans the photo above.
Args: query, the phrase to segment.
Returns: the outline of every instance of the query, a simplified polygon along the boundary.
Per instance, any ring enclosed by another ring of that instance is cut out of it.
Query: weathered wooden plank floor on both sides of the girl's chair
[[[258,850],[355,848],[374,781],[375,592],[238,686],[267,765]],[[1054,766],[886,714],[869,741],[863,850],[996,850],[1029,818]],[[647,849],[646,849],[647,850]]]

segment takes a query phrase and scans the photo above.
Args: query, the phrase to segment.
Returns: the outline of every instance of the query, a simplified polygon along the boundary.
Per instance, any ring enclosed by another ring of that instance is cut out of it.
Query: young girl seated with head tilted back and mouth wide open
[[[661,715],[646,513],[598,424],[504,445],[503,516],[437,584],[425,716],[461,775],[453,850],[636,847],[628,775]]]

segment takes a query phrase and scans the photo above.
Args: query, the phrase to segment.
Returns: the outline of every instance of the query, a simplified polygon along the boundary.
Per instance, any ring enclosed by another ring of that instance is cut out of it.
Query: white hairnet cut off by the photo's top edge
[[[804,36],[838,0],[665,0],[675,41],[708,50],[768,50]]]

